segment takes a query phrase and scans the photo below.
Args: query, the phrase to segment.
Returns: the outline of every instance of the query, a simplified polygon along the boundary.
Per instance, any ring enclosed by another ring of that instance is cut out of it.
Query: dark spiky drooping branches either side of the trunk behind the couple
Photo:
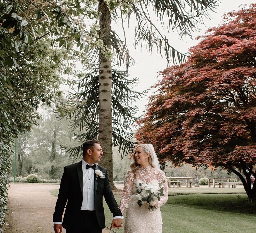
[[[136,116],[138,108],[130,105],[142,98],[147,91],[142,93],[133,91],[132,88],[138,80],[129,79],[127,72],[112,70],[112,140],[113,145],[118,146],[122,158],[129,154],[134,147],[131,139],[134,137],[133,126],[140,119]],[[81,134],[74,134],[76,140],[81,142],[88,139],[96,139],[98,136],[98,76],[97,66],[92,66],[83,79],[77,81],[79,88],[76,94],[69,94],[68,100],[60,102],[57,109],[61,112],[60,118],[70,120],[70,129],[79,128]],[[64,152],[78,158],[82,147],[69,148],[62,145]]]

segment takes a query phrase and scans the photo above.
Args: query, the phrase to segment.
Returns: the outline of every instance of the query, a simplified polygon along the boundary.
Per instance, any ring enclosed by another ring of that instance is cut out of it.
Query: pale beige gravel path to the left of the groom
[[[5,233],[54,233],[52,214],[57,197],[50,190],[59,184],[10,183]],[[103,233],[114,232],[104,229]],[[63,233],[66,233],[64,230]]]

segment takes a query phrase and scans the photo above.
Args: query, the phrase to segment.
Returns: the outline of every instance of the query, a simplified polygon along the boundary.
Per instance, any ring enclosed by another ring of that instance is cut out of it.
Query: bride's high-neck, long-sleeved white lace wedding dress
[[[139,174],[134,178],[134,173],[131,172],[126,175],[124,180],[124,191],[120,201],[119,209],[124,215],[126,210],[124,233],[162,233],[162,214],[160,206],[162,206],[168,199],[167,180],[163,171],[149,167],[140,167]],[[137,204],[136,199],[131,198],[136,192],[136,181],[150,182],[156,180],[164,184],[164,196],[157,202],[157,208],[149,211],[148,203],[144,203],[141,207]]]

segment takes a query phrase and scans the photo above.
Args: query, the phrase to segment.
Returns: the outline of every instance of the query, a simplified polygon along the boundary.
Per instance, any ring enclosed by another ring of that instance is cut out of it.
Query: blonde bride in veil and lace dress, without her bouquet
[[[124,180],[124,191],[119,209],[124,215],[126,210],[124,233],[162,233],[162,214],[160,206],[168,199],[167,180],[160,170],[158,158],[152,144],[140,144],[136,147],[132,156],[131,170]],[[136,193],[136,185],[139,182],[156,180],[164,185],[164,196],[155,204],[156,209],[149,210],[149,204],[143,203],[140,207],[137,199],[132,197]]]

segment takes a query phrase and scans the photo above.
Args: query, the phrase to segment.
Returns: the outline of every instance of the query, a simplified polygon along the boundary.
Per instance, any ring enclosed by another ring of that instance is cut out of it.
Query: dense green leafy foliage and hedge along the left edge
[[[73,9],[78,5],[0,1],[0,232],[13,139],[36,122],[42,103],[50,105],[59,95],[61,74],[72,73],[72,64],[65,62],[69,54],[59,47],[71,49],[77,41],[82,41],[82,49],[85,45],[76,21],[79,10]]]

